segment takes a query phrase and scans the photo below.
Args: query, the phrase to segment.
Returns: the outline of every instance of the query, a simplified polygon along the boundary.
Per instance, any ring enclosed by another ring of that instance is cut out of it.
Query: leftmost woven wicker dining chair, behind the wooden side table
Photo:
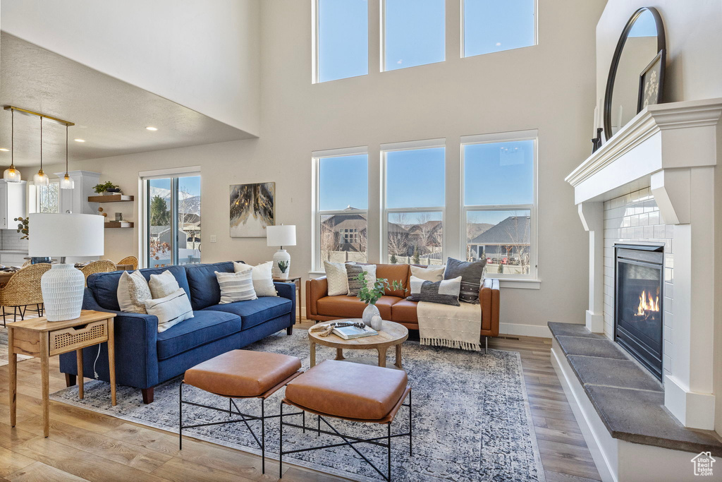
[[[17,315],[25,319],[28,306],[35,305],[38,315],[43,316],[43,292],[40,290],[40,277],[50,270],[48,263],[30,264],[10,277],[4,288],[0,288],[0,306],[2,309],[2,324],[6,326],[5,317],[13,315],[12,321],[17,322]],[[5,311],[12,308],[13,312]]]

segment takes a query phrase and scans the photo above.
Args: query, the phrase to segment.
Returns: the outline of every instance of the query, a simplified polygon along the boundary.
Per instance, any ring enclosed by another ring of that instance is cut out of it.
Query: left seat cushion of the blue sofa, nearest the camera
[[[195,311],[193,318],[158,333],[158,359],[165,360],[233,335],[240,332],[241,326],[240,317],[232,313]]]

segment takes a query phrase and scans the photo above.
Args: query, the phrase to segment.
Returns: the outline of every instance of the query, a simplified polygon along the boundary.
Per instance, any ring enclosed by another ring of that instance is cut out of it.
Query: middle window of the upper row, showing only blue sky
[[[445,59],[445,0],[383,0],[384,70]]]

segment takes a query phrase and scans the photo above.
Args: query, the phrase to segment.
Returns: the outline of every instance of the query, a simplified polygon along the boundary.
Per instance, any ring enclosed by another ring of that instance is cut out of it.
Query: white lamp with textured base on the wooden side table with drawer
[[[103,256],[103,216],[38,213],[30,216],[30,257],[59,257],[40,278],[45,318],[61,322],[80,317],[85,277],[66,257]]]

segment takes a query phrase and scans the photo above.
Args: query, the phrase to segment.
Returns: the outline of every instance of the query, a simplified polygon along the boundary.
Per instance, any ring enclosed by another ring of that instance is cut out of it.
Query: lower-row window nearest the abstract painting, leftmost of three
[[[368,155],[365,150],[314,155],[316,268],[323,262],[368,260]]]

